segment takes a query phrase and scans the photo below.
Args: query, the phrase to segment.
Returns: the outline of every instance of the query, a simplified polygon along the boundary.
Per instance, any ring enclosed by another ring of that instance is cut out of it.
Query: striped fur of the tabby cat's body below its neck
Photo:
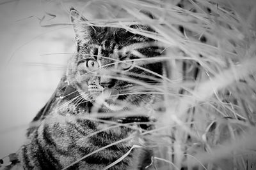
[[[70,105],[73,104],[68,104],[67,108],[74,107]],[[117,127],[88,137],[88,134],[100,130],[99,122],[67,117],[63,115],[63,112],[69,114],[69,111],[65,111],[67,108],[60,111],[61,115],[53,113],[47,116],[38,129],[29,135],[30,141],[22,146],[19,155],[22,164],[26,165],[25,169],[61,169],[86,154],[132,134],[125,127]],[[81,160],[70,169],[103,169],[122,157],[135,144],[144,145],[136,139],[113,145]],[[136,157],[140,155],[138,150],[133,153],[112,169],[135,169],[134,159],[138,159]]]

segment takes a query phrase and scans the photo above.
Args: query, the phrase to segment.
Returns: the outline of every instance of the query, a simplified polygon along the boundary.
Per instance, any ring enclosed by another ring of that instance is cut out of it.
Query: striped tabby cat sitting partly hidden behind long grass
[[[129,152],[133,145],[145,146],[147,140],[140,138],[138,132],[141,128],[152,128],[145,124],[134,125],[133,129],[124,125],[106,129],[111,125],[108,121],[124,124],[151,119],[104,117],[104,113],[118,114],[134,108],[142,108],[147,113],[156,98],[150,94],[153,88],[147,84],[160,82],[157,74],[163,74],[163,64],[143,64],[136,59],[159,56],[161,52],[155,40],[122,28],[88,26],[83,23],[86,19],[73,8],[70,19],[77,53],[70,59],[67,72],[51,99],[33,119],[27,133],[28,143],[17,152],[23,169],[104,169]],[[129,27],[152,31],[145,25]],[[84,118],[93,113],[99,113],[102,118]],[[38,122],[40,125],[36,126]],[[105,130],[90,135],[102,129]],[[83,158],[132,135],[136,137]],[[109,169],[145,169],[151,154],[150,150],[134,148]]]

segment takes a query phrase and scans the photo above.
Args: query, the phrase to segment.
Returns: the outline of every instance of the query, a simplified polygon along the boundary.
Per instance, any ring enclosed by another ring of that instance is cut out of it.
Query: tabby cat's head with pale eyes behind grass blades
[[[67,77],[79,94],[112,111],[150,101],[150,85],[159,78],[150,71],[162,74],[163,68],[161,62],[145,64],[140,59],[160,55],[155,41],[125,29],[82,24],[86,19],[76,10],[70,11],[70,17],[77,54]],[[132,27],[147,30],[142,25]]]

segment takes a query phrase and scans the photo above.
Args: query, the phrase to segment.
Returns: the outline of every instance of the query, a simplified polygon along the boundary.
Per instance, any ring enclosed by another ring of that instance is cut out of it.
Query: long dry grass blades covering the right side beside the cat
[[[56,2],[42,1],[44,5],[51,3]],[[86,24],[124,27],[156,39],[163,46],[163,56],[159,59],[166,63],[166,77],[159,77],[163,79],[162,87],[152,88],[163,94],[164,101],[161,105],[156,103],[156,108],[164,111],[154,112],[156,129],[140,134],[147,134],[145,138],[152,140],[152,145],[147,146],[156,152],[151,167],[250,169],[253,162],[255,166],[256,3],[253,0],[188,0],[184,8],[176,6],[179,0],[58,3],[60,8],[55,13],[53,9],[51,13],[45,11],[45,17],[41,18],[40,24],[46,30],[70,24],[64,19],[57,22],[54,16],[67,17],[67,9],[74,6],[84,11],[84,16],[89,15]],[[140,10],[150,11],[154,19]],[[150,25],[157,34],[131,29],[131,24]],[[184,34],[180,27],[184,28]],[[202,42],[204,39],[207,41]],[[142,146],[132,149],[136,147]]]

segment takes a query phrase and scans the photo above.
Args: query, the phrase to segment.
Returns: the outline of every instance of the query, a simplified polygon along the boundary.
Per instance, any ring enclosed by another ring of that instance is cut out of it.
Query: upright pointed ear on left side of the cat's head
[[[70,8],[70,20],[76,34],[77,49],[86,47],[92,39],[93,27],[86,25],[84,23],[87,21],[86,18],[74,8]]]

